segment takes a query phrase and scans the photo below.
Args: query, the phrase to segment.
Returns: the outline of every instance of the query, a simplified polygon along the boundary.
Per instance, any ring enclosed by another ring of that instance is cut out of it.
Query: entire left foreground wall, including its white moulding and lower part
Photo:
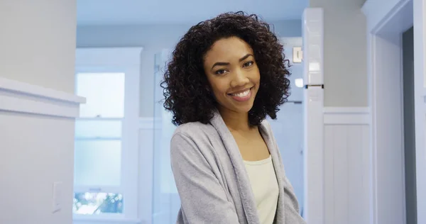
[[[0,223],[72,223],[75,21],[75,1],[0,1]]]

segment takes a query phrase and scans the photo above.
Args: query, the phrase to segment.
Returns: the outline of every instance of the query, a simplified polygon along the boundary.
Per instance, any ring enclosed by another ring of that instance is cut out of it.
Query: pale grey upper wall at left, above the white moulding
[[[0,1],[0,77],[74,93],[75,1]]]

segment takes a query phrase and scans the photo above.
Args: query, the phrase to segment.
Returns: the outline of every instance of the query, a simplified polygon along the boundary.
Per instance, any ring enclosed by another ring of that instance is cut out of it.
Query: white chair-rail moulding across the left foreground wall
[[[74,94],[0,77],[0,111],[77,118],[85,101]]]

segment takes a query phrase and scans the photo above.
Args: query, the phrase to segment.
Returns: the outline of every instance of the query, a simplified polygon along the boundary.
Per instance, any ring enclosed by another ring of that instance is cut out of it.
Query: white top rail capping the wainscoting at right
[[[369,107],[325,107],[324,125],[370,124]]]

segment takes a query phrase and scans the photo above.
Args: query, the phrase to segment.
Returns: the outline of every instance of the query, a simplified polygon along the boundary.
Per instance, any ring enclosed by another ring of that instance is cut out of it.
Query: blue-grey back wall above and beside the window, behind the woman
[[[302,22],[271,23],[280,37],[302,36]],[[173,48],[192,24],[141,26],[79,26],[77,47],[142,46],[141,116],[153,116],[154,55],[164,48]]]

